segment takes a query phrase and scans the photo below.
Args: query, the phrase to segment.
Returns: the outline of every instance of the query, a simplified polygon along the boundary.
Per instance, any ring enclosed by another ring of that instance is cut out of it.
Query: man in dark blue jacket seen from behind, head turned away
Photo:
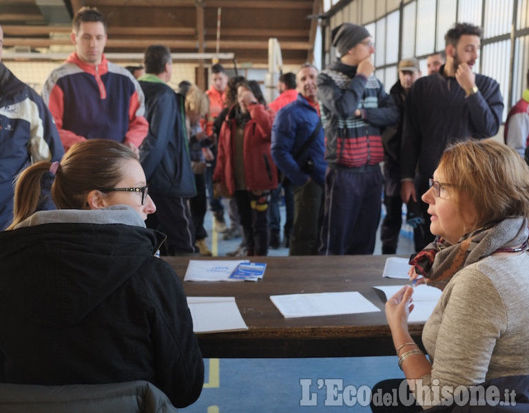
[[[196,253],[187,205],[187,199],[196,195],[196,187],[185,133],[184,96],[167,85],[172,76],[168,47],[147,47],[144,63],[146,74],[138,81],[145,94],[149,133],[140,147],[140,162],[156,204],[156,213],[146,224],[167,235],[163,255]]]

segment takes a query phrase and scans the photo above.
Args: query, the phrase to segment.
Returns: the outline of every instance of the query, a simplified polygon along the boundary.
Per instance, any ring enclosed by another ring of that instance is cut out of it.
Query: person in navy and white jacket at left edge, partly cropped
[[[2,60],[0,26],[0,231],[13,220],[13,181],[25,167],[39,160],[61,160],[64,149],[53,118],[42,98],[19,81]],[[53,176],[43,182],[40,209],[55,209],[50,189]]]

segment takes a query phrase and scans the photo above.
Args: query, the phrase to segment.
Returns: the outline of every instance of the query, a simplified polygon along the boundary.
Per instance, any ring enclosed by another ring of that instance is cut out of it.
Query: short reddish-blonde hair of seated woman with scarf
[[[444,180],[476,209],[475,228],[529,218],[529,167],[517,151],[492,139],[458,142],[444,151]],[[464,207],[460,205],[460,207]]]

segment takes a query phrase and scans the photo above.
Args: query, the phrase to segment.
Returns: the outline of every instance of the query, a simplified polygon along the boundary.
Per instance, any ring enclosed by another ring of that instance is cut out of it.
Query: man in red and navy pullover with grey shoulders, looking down
[[[125,68],[107,61],[107,22],[96,8],[83,7],[72,22],[75,52],[50,73],[44,102],[66,150],[75,142],[105,138],[138,153],[149,125],[141,87]]]

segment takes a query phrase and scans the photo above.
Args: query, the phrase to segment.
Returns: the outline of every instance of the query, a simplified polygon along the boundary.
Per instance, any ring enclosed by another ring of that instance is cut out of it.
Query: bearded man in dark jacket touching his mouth
[[[472,72],[481,35],[481,28],[475,25],[456,23],[444,36],[446,64],[437,74],[417,79],[410,89],[401,147],[403,202],[410,198],[417,201],[428,190],[428,179],[448,145],[498,132],[504,110],[499,84]],[[428,204],[420,204],[426,245],[434,237]]]

